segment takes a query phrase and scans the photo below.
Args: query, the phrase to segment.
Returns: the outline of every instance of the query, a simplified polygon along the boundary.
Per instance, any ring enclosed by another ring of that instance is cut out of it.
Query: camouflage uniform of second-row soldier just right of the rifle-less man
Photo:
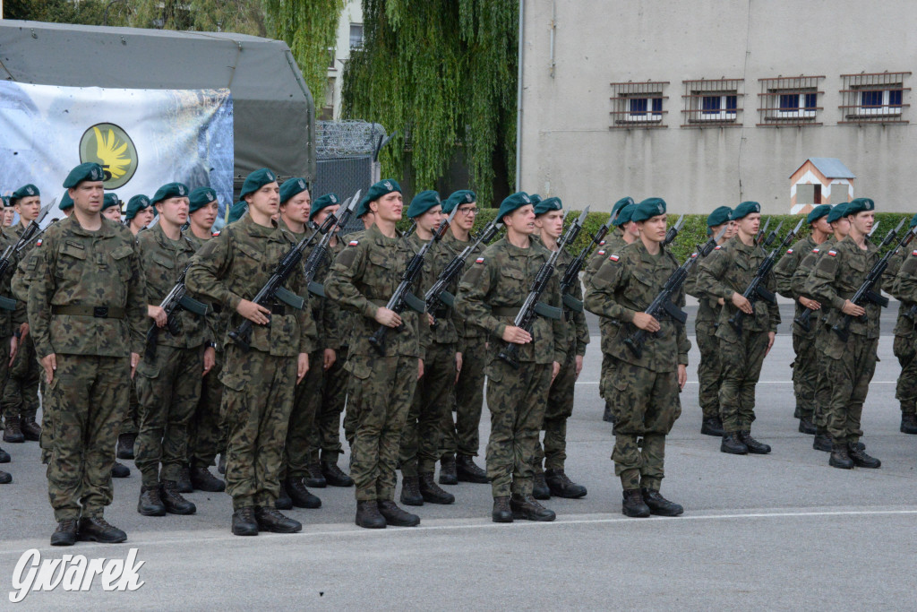
[[[194,254],[190,239],[172,240],[157,225],[137,237],[147,281],[147,304],[159,306]],[[204,343],[212,337],[204,317],[178,309],[180,333],[157,328],[156,354],[144,354],[137,368],[140,428],[137,467],[143,486],[178,482],[188,465],[188,427],[201,398]],[[153,325],[150,323],[150,325]],[[161,474],[160,474],[161,464]]]

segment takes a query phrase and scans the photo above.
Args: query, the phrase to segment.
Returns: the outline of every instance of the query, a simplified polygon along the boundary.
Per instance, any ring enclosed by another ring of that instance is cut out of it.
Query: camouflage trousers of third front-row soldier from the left
[[[357,501],[392,501],[401,433],[417,386],[416,357],[354,355],[348,411],[356,410],[350,477]]]

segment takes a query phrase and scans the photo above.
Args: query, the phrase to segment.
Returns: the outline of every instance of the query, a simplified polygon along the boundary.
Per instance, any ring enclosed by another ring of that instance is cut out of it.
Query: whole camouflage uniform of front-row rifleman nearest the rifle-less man
[[[258,294],[293,245],[293,236],[276,222],[267,228],[246,216],[208,240],[194,255],[185,277],[192,293],[232,313],[223,339],[226,361],[220,381],[225,386],[221,412],[227,435],[226,491],[236,510],[274,507],[280,495],[296,358],[315,350],[315,322],[308,305],[297,310],[277,302],[269,306],[271,323],[253,326],[250,351],[238,347],[228,332],[244,320],[236,314],[239,302]],[[303,280],[302,274],[293,273],[286,287],[306,298]],[[309,367],[315,364],[310,362]]]

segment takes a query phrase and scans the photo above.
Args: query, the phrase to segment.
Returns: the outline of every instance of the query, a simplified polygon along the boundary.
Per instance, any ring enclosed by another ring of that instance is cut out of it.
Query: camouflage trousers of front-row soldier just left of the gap
[[[610,401],[617,418],[614,475],[621,478],[625,491],[640,487],[658,491],[665,476],[666,436],[681,415],[678,372],[654,372],[619,362],[609,387],[614,390]]]

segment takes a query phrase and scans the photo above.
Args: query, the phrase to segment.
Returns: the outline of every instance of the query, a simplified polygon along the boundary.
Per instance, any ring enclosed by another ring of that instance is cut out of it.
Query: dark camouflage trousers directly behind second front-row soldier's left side
[[[201,381],[201,399],[188,425],[188,456],[193,465],[199,467],[214,465],[216,455],[226,451],[226,428],[221,415],[223,384],[220,383],[220,372],[223,360],[223,351],[216,351],[214,367]]]

